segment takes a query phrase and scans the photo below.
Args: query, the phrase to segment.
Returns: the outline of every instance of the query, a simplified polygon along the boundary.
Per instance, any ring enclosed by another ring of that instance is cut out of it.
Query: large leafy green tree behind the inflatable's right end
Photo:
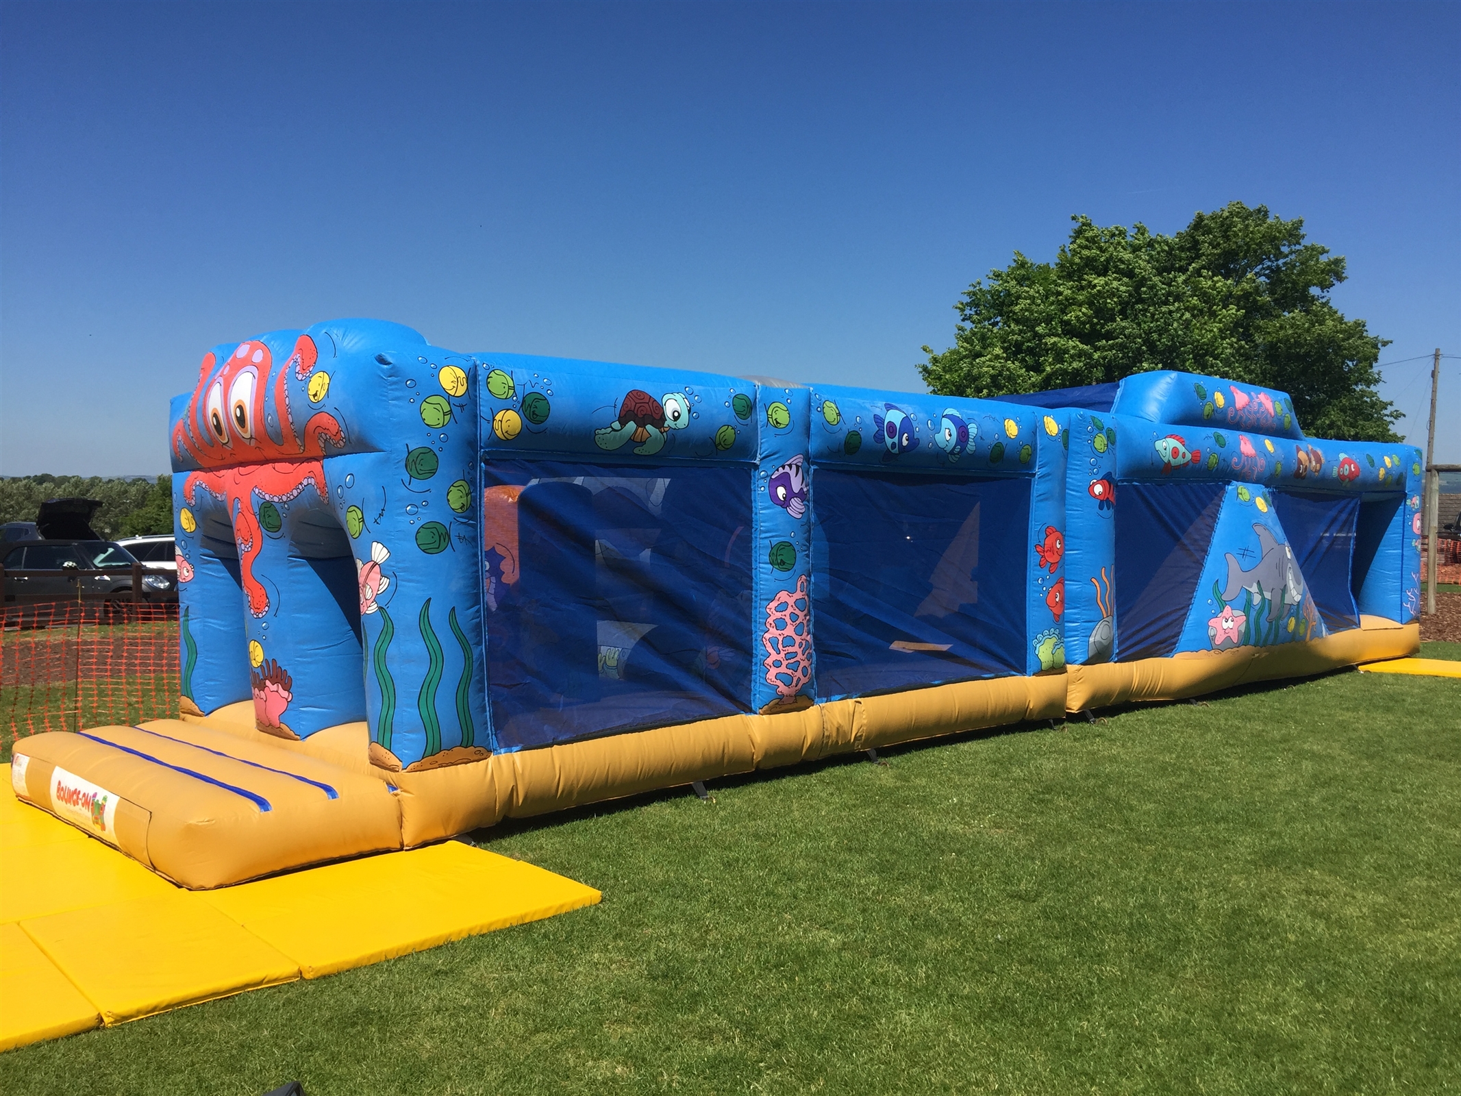
[[[958,304],[954,345],[925,346],[929,390],[999,396],[1185,370],[1283,389],[1315,437],[1398,441],[1375,387],[1381,346],[1330,301],[1344,257],[1303,221],[1232,202],[1176,235],[1075,216],[1053,263],[1018,251]]]

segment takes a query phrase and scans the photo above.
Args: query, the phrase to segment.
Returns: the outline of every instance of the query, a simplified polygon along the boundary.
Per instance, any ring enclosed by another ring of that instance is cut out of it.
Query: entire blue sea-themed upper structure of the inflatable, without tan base
[[[340,320],[206,355],[172,460],[186,710],[406,770],[1417,606],[1414,449],[1178,373],[970,400]]]

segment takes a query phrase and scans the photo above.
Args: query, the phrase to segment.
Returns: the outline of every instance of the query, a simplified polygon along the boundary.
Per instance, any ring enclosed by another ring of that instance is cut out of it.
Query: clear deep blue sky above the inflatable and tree
[[[343,316],[922,390],[1072,213],[1233,199],[1347,256],[1382,361],[1461,355],[1458,66],[1455,3],[7,0],[0,473],[164,471],[209,346]]]

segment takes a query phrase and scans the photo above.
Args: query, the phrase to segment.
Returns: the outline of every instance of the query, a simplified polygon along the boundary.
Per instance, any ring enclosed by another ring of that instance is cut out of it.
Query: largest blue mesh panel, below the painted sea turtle
[[[749,710],[752,475],[487,463],[488,700],[503,747]]]

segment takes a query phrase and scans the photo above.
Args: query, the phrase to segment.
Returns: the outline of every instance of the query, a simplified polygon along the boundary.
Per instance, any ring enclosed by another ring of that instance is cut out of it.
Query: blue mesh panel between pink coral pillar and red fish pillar
[[[824,466],[812,491],[820,696],[1024,672],[1029,479]]]

